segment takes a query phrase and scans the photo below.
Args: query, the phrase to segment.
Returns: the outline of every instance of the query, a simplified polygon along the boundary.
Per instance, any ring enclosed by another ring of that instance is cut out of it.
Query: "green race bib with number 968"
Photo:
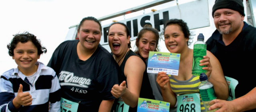
[[[199,93],[177,96],[177,112],[201,112]]]

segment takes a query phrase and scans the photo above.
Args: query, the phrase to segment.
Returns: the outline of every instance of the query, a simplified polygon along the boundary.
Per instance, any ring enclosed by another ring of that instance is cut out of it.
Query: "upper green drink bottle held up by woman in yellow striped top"
[[[203,70],[202,68],[205,66],[200,66],[200,60],[204,59],[206,56],[206,43],[204,42],[204,35],[198,35],[198,41],[194,44],[193,50],[193,65],[192,65],[192,75],[200,76],[200,73],[206,73],[207,70]]]

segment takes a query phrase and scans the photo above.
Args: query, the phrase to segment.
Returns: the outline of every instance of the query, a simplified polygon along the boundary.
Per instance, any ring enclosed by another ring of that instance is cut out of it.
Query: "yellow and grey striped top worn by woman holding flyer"
[[[184,80],[184,81],[177,80],[171,75],[168,75],[168,76],[171,84],[171,90],[176,95],[199,93],[198,86],[201,84],[199,76],[193,75],[189,80]],[[201,105],[201,112],[206,112],[201,96],[200,96],[200,105]]]

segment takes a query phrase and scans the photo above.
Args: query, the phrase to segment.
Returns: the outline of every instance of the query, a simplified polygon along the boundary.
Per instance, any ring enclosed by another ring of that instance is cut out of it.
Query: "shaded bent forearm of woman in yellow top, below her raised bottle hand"
[[[220,100],[228,99],[228,84],[223,82],[218,82],[214,78],[209,78],[208,80],[214,85],[214,91],[216,97]]]

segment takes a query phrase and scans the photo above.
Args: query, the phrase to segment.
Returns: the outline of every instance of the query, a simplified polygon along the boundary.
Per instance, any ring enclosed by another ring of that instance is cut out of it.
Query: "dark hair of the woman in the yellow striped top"
[[[168,20],[163,28],[163,34],[165,32],[165,28],[169,25],[177,25],[179,26],[179,29],[183,32],[185,38],[188,38],[189,40],[192,40],[192,38],[190,36],[192,36],[191,32],[189,31],[189,28],[187,26],[187,23],[184,22],[183,20],[179,20],[179,19],[170,19]],[[192,41],[193,42],[193,41]],[[187,45],[189,46],[192,42],[187,41]]]

